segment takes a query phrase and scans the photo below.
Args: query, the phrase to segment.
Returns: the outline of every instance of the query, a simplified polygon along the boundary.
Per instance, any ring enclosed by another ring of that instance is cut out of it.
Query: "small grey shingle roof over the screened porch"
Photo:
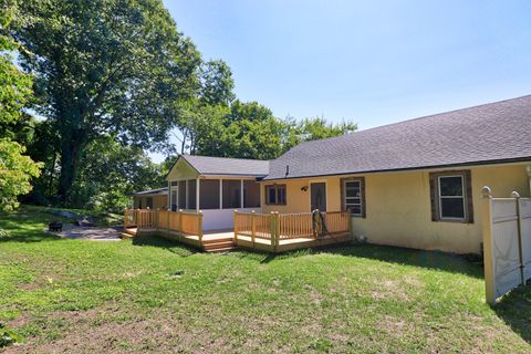
[[[269,160],[181,155],[201,175],[264,177]]]

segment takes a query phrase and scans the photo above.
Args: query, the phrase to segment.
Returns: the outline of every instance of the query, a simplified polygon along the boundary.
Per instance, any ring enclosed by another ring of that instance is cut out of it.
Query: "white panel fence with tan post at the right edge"
[[[531,198],[492,198],[482,189],[483,260],[487,302],[531,278]]]

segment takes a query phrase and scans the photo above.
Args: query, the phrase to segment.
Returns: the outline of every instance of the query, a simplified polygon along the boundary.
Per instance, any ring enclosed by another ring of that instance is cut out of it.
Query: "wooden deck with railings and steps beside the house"
[[[351,219],[344,212],[330,212],[320,219],[312,214],[235,212],[233,230],[205,231],[200,214],[133,211],[126,211],[124,237],[157,235],[209,252],[244,248],[277,253],[352,240]]]

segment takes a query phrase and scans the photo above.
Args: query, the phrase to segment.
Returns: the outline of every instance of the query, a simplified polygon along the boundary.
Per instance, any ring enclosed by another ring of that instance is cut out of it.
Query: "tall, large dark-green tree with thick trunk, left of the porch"
[[[159,0],[28,0],[10,34],[37,77],[34,108],[59,135],[59,195],[70,201],[86,147],[105,134],[152,147],[195,95],[199,53]]]

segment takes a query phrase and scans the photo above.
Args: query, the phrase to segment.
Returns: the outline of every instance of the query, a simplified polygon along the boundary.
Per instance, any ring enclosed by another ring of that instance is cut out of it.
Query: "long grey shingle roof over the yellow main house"
[[[531,160],[531,95],[302,143],[264,179],[509,160]]]

